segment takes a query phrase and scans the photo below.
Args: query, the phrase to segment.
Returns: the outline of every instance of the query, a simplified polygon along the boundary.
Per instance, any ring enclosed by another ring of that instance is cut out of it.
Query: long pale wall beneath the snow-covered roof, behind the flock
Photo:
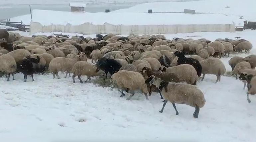
[[[113,33],[113,34],[173,34],[190,32],[235,32],[234,24],[205,24],[205,25],[47,25],[31,22],[30,34],[36,32],[68,32],[81,34]]]

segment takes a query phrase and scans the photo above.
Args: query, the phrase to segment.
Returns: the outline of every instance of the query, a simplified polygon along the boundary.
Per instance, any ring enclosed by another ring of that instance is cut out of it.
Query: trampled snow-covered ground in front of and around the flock
[[[240,36],[252,42],[250,54],[256,54],[253,30],[165,36],[209,40]],[[230,58],[221,58],[227,71],[231,71]],[[51,74],[36,74],[35,82],[29,78],[25,83],[21,73],[15,74],[16,80],[10,82],[6,82],[5,77],[0,78],[2,141],[255,141],[256,96],[250,95],[252,102],[249,104],[243,83],[234,77],[222,76],[221,82],[215,84],[216,76],[206,75],[205,80],[197,84],[204,93],[206,104],[195,119],[192,116],[194,108],[187,105],[176,105],[179,116],[175,116],[171,103],[162,114],[159,113],[163,103],[157,93],[147,101],[144,95],[136,92],[133,99],[127,101],[128,94],[120,98],[116,89],[80,84],[79,81],[72,83],[70,77],[60,76],[61,79],[52,79]]]

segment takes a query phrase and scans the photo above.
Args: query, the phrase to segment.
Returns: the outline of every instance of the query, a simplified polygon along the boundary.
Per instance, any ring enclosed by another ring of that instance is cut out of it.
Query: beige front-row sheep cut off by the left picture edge
[[[0,56],[0,71],[7,74],[7,81],[10,81],[10,74],[12,74],[13,80],[14,75],[13,73],[17,70],[17,65],[15,59],[11,55],[2,55]]]

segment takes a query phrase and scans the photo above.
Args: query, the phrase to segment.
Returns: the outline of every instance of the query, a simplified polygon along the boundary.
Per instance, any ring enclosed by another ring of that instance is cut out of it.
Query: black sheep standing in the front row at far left
[[[33,78],[33,74],[35,72],[33,68],[33,63],[37,64],[39,62],[40,62],[39,56],[37,56],[37,59],[31,58],[30,56],[28,56],[27,58],[22,60],[22,63],[20,66],[21,66],[21,72],[24,74],[24,82],[27,81],[28,75],[32,77],[32,81],[35,81]]]

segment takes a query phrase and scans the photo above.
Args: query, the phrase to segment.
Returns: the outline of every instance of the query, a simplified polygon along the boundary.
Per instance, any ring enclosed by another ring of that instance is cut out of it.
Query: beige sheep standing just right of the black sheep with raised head
[[[215,83],[220,81],[221,75],[226,72],[225,65],[217,58],[209,58],[200,62],[202,66],[202,80],[204,79],[205,74],[215,74],[217,80]]]

